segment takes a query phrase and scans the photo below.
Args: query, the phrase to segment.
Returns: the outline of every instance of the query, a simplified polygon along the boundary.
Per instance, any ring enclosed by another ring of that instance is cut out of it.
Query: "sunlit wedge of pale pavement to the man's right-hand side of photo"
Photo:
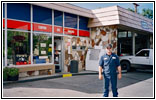
[[[150,97],[153,95],[153,78],[132,84],[118,90],[119,97]],[[112,92],[110,91],[110,97]]]

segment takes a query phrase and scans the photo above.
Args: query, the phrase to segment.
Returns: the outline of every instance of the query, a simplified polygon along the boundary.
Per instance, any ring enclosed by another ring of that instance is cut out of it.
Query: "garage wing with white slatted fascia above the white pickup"
[[[89,21],[91,39],[98,46],[112,43],[114,52],[135,55],[141,49],[153,48],[153,20],[119,6],[92,10]]]

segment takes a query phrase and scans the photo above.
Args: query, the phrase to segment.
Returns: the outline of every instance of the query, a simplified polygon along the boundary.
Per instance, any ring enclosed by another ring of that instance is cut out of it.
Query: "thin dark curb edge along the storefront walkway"
[[[72,76],[80,76],[80,75],[96,75],[98,72],[92,72],[92,73],[69,73],[70,75],[67,77]],[[7,81],[3,82],[3,85],[12,84],[12,83],[24,83],[24,82],[32,82],[32,81],[38,81],[38,80],[46,80],[46,79],[55,79],[55,78],[64,78],[65,74],[61,75],[52,75],[52,76],[45,76],[45,77],[38,77],[38,78],[32,78],[32,79],[25,79],[25,80],[18,80],[18,81]]]

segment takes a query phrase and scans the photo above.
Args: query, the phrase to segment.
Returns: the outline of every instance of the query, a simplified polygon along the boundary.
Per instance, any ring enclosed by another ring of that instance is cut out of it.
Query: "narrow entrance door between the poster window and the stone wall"
[[[55,72],[59,73],[63,68],[63,60],[62,60],[62,39],[61,36],[54,36],[54,64],[55,64]]]

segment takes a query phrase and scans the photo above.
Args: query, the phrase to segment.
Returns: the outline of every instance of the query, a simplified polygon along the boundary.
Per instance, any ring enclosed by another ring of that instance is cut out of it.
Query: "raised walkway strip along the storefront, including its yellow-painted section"
[[[96,71],[81,71],[79,73],[55,73],[53,75],[31,76],[31,77],[19,78],[18,81],[3,81],[3,85],[11,84],[11,83],[22,83],[22,82],[44,80],[44,79],[71,77],[71,76],[77,76],[77,75],[92,75],[92,74],[98,74],[98,72],[96,72]]]

